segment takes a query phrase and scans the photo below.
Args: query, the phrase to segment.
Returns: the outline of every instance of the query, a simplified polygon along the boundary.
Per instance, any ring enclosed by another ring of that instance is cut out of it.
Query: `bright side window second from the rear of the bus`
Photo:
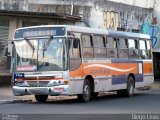
[[[147,59],[146,50],[147,49],[146,49],[145,41],[144,40],[139,40],[139,51],[140,51],[139,57],[141,59]]]

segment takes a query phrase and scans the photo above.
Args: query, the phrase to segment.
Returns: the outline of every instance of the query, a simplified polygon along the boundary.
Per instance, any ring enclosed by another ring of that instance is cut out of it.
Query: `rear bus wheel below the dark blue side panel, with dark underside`
[[[122,97],[131,97],[134,94],[134,80],[129,77],[127,80],[127,89],[117,90],[117,95]]]

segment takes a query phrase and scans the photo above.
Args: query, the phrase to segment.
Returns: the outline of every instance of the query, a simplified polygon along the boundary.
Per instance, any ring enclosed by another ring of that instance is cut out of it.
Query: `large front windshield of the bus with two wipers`
[[[62,71],[67,67],[64,38],[15,41],[16,71]]]

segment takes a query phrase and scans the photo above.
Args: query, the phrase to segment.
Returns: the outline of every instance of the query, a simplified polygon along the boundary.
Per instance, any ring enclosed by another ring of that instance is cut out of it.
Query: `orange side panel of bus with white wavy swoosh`
[[[71,71],[71,77],[84,77],[86,75],[107,76],[134,73],[138,74],[138,63],[107,63],[82,64],[77,70]]]

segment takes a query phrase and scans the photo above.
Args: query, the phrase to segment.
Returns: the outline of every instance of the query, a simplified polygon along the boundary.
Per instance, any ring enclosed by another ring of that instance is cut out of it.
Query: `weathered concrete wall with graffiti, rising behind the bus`
[[[81,16],[76,25],[95,28],[132,29],[157,37],[158,24],[152,24],[159,14],[159,0],[1,0],[0,8],[33,12],[56,12]],[[153,7],[155,15],[153,16]],[[72,9],[73,8],[73,9]],[[159,19],[159,18],[158,18]],[[52,24],[52,22],[49,22]],[[63,24],[69,24],[64,22]],[[155,35],[156,34],[156,35]],[[153,47],[158,48],[157,39],[152,39]]]

